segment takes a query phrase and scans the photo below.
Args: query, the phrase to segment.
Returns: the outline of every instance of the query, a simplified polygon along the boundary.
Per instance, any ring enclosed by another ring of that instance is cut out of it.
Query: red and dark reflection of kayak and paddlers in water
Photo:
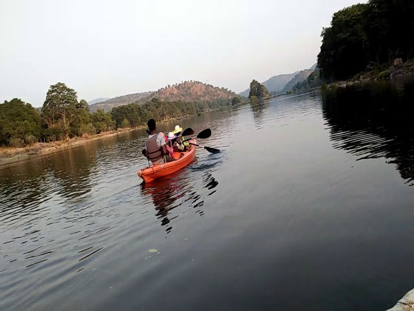
[[[179,175],[175,174],[175,176]],[[170,217],[172,209],[181,206],[201,209],[204,205],[204,198],[215,193],[210,190],[219,184],[211,173],[204,174],[201,178],[201,185],[199,185],[199,179],[175,179],[175,176],[155,180],[148,185],[144,183],[141,185],[141,194],[151,197],[157,211],[155,216],[161,219],[161,226],[167,225],[167,233],[172,229],[170,221],[178,217]],[[204,212],[200,210],[199,214],[202,215]]]

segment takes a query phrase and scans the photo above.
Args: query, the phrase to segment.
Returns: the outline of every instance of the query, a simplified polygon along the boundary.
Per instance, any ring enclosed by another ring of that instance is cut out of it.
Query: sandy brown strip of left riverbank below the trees
[[[75,137],[69,140],[58,140],[56,142],[36,142],[31,146],[22,148],[0,147],[0,166],[12,164],[15,162],[46,156],[51,153],[72,149],[83,144],[88,144],[102,138],[110,138],[115,135],[143,129],[144,126],[138,128],[118,129],[117,131],[108,131],[96,135],[84,136],[82,138]]]

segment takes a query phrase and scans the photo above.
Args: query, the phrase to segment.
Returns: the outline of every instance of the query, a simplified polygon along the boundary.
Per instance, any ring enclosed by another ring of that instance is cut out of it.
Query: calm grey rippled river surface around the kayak
[[[391,308],[414,287],[413,89],[181,120],[221,153],[152,185],[144,130],[0,167],[0,310]]]

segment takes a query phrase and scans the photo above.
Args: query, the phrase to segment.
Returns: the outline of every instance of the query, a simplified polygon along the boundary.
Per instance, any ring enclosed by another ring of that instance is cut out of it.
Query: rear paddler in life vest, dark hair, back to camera
[[[155,123],[155,120],[148,120],[147,125],[149,136],[145,142],[146,157],[151,160],[153,165],[173,161],[174,159],[168,156],[164,133],[157,132],[157,124]]]

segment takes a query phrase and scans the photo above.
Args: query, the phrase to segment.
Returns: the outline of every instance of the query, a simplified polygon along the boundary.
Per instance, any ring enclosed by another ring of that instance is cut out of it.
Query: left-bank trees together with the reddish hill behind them
[[[157,97],[155,97],[157,96]],[[126,100],[138,103],[124,104]],[[87,138],[119,128],[145,126],[157,121],[197,115],[242,103],[242,97],[201,82],[184,82],[146,92],[115,97],[92,105],[78,100],[77,92],[66,84],[51,85],[41,109],[17,98],[0,104],[0,145],[23,147],[35,142],[54,142],[74,137]],[[111,113],[99,107],[113,106]]]

